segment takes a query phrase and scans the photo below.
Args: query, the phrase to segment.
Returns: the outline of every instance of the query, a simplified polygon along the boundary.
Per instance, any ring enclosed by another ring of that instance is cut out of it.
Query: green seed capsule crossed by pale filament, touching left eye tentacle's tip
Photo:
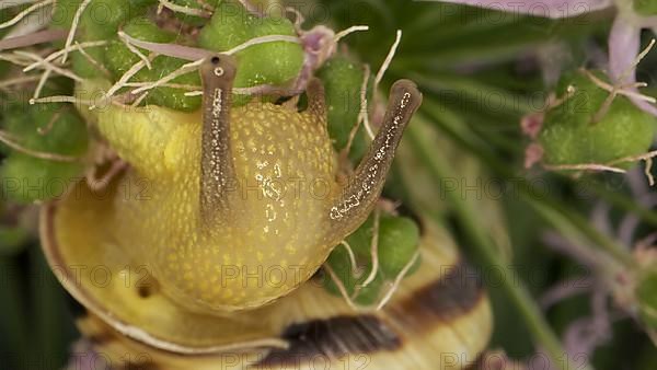
[[[257,18],[240,4],[222,2],[201,30],[198,44],[206,49],[226,51],[252,38],[267,35],[296,36],[296,31],[287,19]],[[235,56],[239,61],[234,82],[237,88],[281,85],[297,78],[303,65],[301,45],[288,42],[254,45]]]

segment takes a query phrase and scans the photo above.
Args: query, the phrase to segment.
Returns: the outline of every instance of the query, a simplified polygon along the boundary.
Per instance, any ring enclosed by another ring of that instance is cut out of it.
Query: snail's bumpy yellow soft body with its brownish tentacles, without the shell
[[[235,63],[208,58],[201,112],[113,106],[101,134],[131,164],[113,220],[163,292],[188,309],[254,309],[307,281],[371,211],[420,94],[397,82],[383,126],[347,184],[336,182],[321,84],[309,108],[270,103],[230,109]]]

